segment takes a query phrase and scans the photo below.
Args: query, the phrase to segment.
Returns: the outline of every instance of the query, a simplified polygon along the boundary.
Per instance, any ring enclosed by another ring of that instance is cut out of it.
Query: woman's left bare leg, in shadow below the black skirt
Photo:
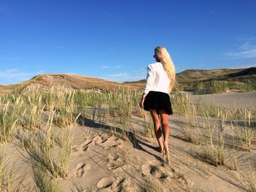
[[[162,142],[162,131],[160,128],[160,120],[159,120],[159,115],[157,115],[156,110],[149,110],[150,114],[152,116],[153,122],[154,122],[154,134],[156,134],[157,137],[157,142],[159,144],[160,147],[160,153],[163,152],[164,149],[164,145]]]

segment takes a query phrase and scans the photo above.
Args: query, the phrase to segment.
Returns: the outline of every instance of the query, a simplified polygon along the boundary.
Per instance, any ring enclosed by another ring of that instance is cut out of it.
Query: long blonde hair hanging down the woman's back
[[[154,49],[154,56],[156,60],[164,66],[165,72],[170,79],[169,91],[171,91],[175,84],[176,73],[170,54],[167,52],[165,47],[156,47]]]

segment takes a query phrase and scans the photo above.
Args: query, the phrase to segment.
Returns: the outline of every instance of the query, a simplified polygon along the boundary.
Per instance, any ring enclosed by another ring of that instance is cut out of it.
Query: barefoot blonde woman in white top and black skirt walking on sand
[[[165,47],[156,47],[154,58],[157,62],[148,65],[146,87],[140,99],[140,107],[151,113],[160,153],[168,156],[168,115],[173,114],[169,93],[175,83],[175,67]]]

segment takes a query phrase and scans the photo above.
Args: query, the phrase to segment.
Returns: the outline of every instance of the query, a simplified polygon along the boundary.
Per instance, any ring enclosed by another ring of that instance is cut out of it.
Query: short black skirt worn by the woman
[[[170,96],[167,93],[159,91],[149,91],[144,101],[144,110],[165,110],[168,115],[173,114],[172,105],[170,103]]]

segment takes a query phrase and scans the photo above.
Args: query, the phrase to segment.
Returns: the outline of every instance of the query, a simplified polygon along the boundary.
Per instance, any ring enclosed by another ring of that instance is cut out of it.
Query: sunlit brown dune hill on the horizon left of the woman
[[[118,82],[102,80],[75,74],[39,74],[31,80],[13,85],[0,85],[0,93],[23,93],[45,91],[50,88],[58,90],[97,90],[111,91],[119,88],[137,88],[135,85],[124,85]]]

